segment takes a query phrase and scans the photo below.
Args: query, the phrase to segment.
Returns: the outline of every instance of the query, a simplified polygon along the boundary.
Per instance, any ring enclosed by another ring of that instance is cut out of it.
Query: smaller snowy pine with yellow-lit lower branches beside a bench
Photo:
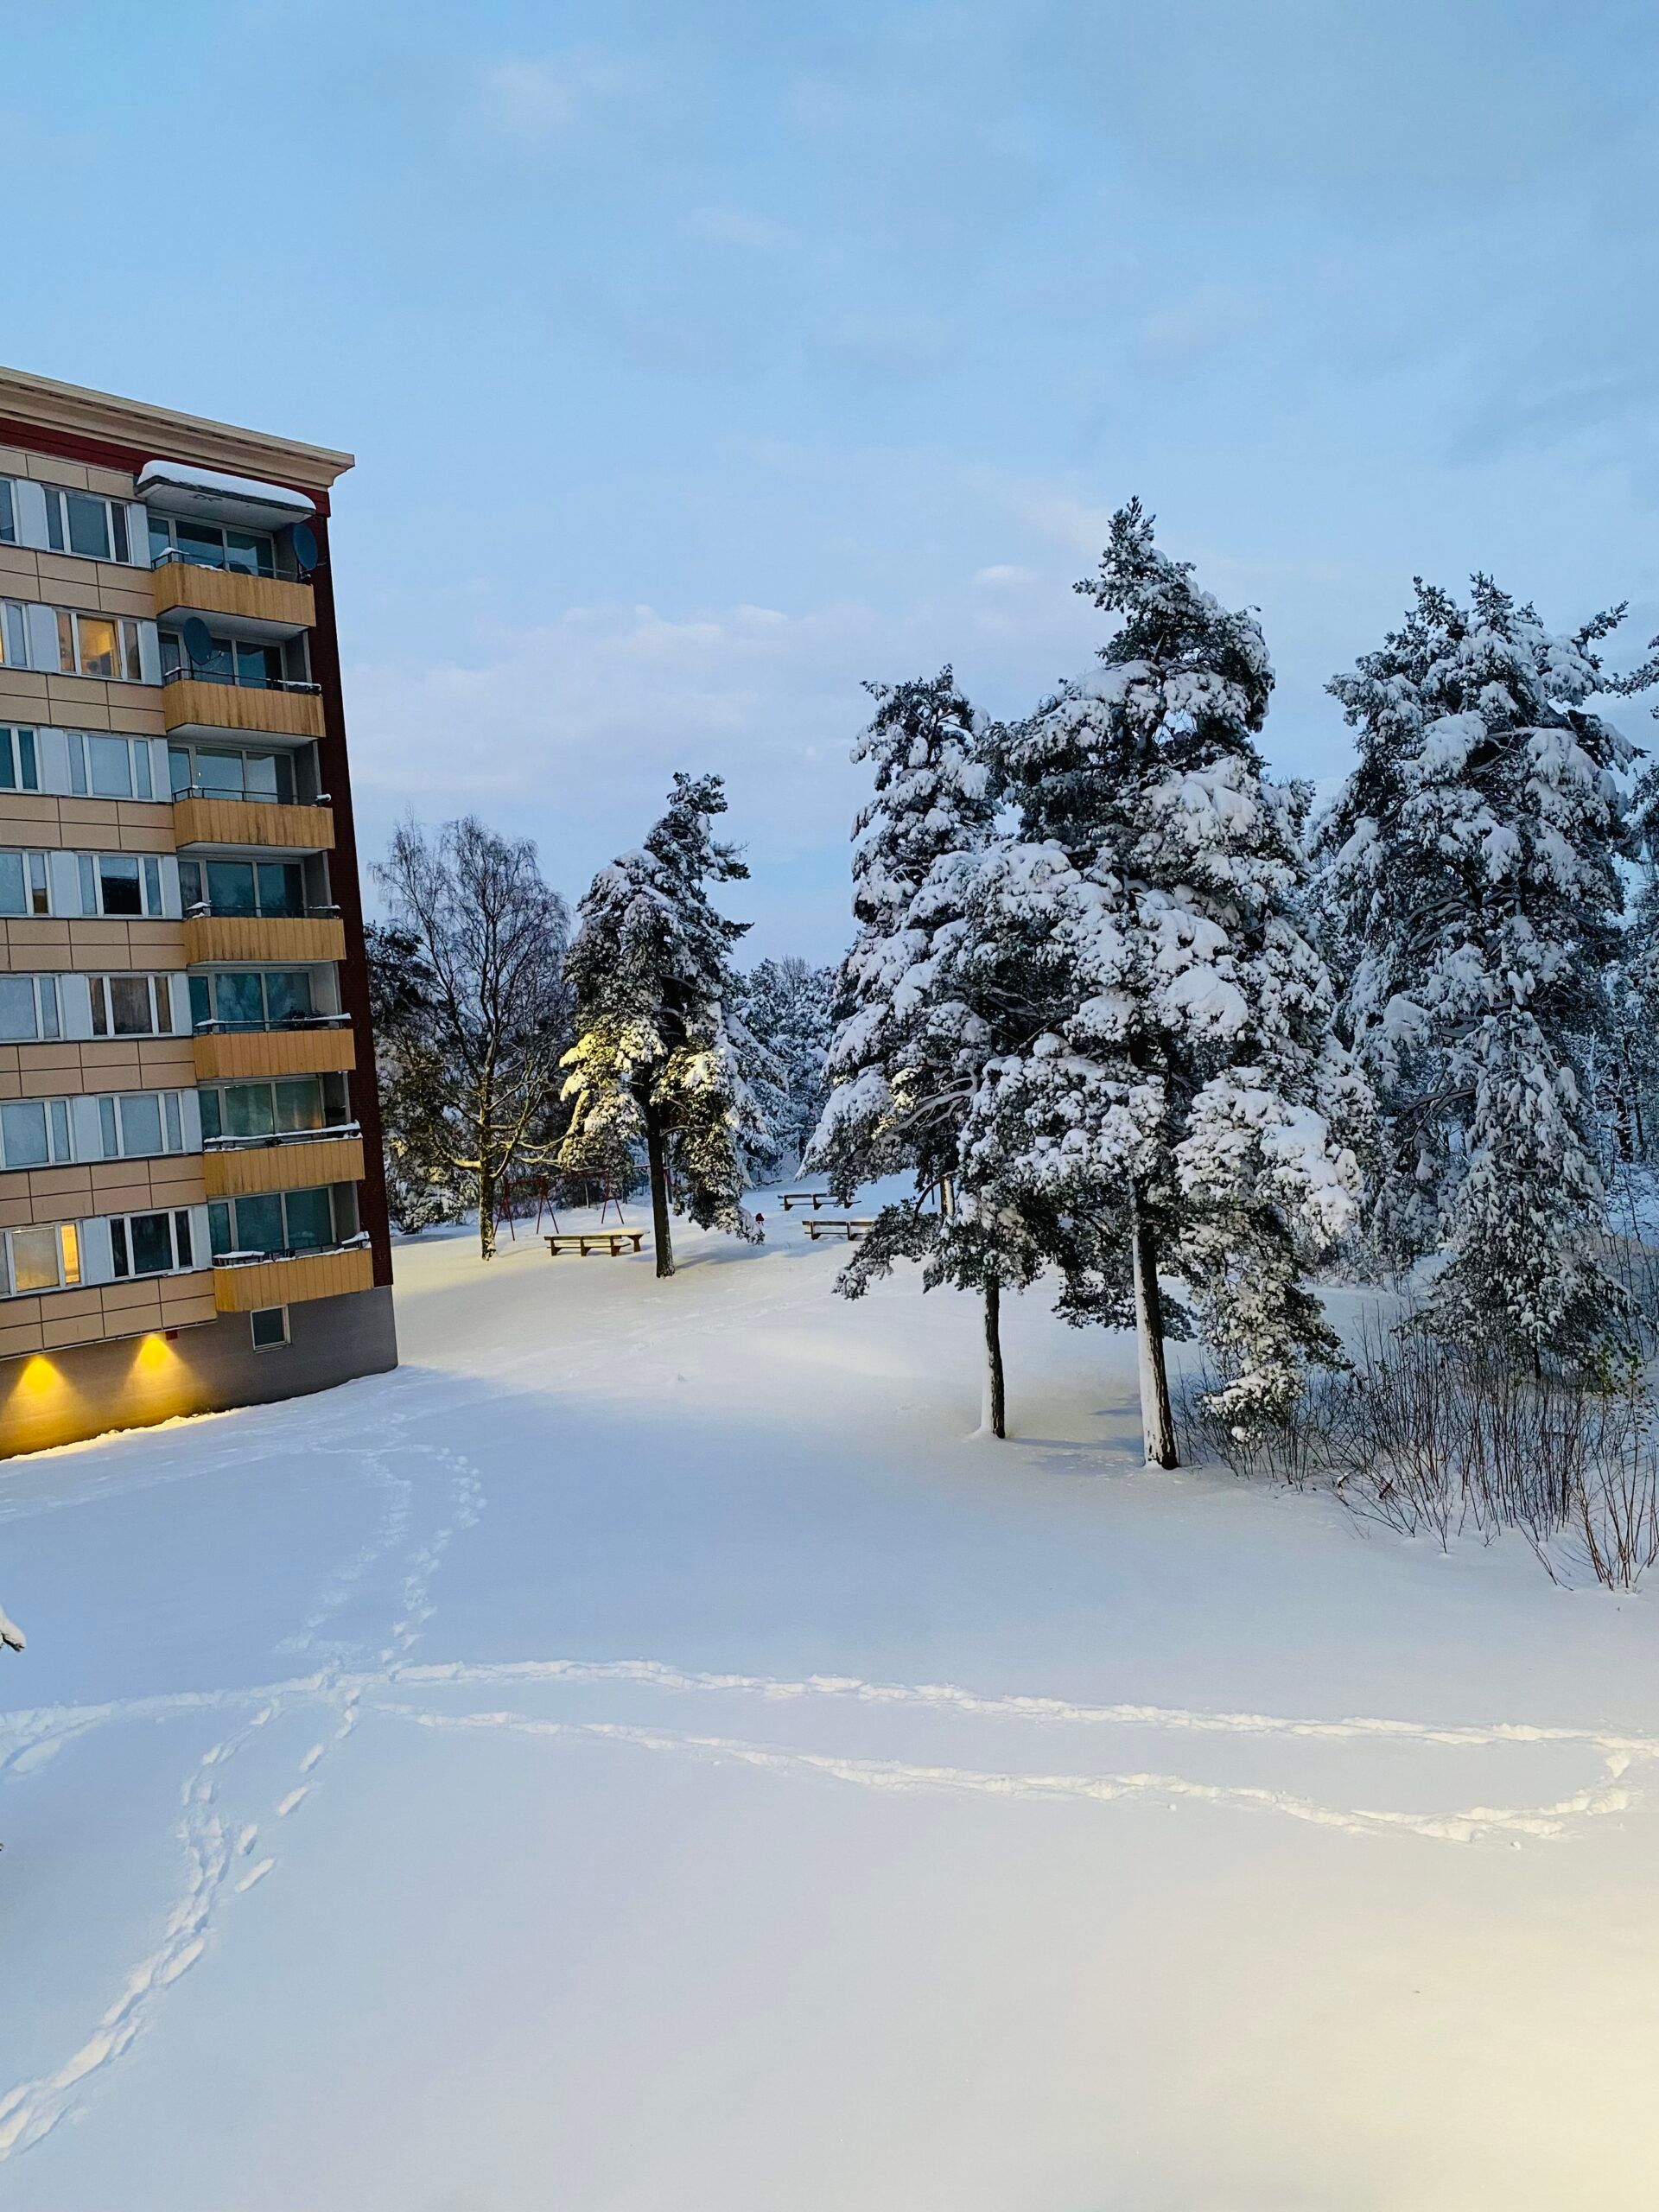
[[[577,1042],[564,1055],[571,1126],[560,1166],[595,1172],[644,1144],[659,1276],[675,1272],[670,1177],[699,1228],[761,1239],[743,1208],[750,1161],[772,1144],[745,1075],[759,1046],[726,1011],[730,953],[748,922],[708,898],[710,883],[748,876],[737,845],[712,834],[723,812],[719,776],[677,774],[644,847],[593,878],[566,962]]]

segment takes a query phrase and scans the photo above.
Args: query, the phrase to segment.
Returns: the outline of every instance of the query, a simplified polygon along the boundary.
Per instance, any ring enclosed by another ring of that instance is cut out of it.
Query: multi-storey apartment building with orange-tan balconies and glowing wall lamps
[[[0,1455],[396,1365],[349,467],[0,369]]]

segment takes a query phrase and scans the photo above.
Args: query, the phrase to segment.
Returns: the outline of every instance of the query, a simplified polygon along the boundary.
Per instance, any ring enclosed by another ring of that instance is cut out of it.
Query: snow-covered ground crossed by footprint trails
[[[1652,1601],[1148,1473],[1035,1296],[967,1442],[765,1214],[0,1469],[0,2203],[1650,2208]]]

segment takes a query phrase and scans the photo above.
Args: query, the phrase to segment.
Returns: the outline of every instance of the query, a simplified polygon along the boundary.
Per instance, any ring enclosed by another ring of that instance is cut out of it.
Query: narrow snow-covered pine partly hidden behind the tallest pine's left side
[[[876,714],[854,759],[874,763],[876,792],[854,823],[858,936],[841,964],[832,1088],[807,1166],[843,1201],[876,1177],[914,1172],[916,1197],[880,1208],[836,1287],[863,1296],[896,1259],[914,1259],[925,1287],[978,1290],[980,1425],[1002,1436],[1002,1287],[1029,1283],[1042,1254],[1006,1190],[962,1172],[960,1133],[993,1033],[956,982],[962,911],[951,874],[984,852],[995,810],[975,714],[949,668],[867,690]]]

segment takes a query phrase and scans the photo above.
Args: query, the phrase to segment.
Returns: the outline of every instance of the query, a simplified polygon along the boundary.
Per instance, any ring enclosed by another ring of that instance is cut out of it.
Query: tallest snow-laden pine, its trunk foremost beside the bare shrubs
[[[1360,1086],[1329,1035],[1332,989],[1298,927],[1305,792],[1256,734],[1272,670],[1252,613],[1157,551],[1137,500],[1099,575],[1121,615],[1102,666],[998,732],[1020,838],[958,885],[971,1004],[1018,1046],[975,1088],[962,1157],[1046,1192],[1073,1321],[1133,1325],[1148,1460],[1175,1464],[1164,1338],[1190,1316],[1223,1363],[1212,1407],[1285,1411],[1303,1363],[1336,1356],[1303,1287],[1358,1190],[1334,1117]]]

